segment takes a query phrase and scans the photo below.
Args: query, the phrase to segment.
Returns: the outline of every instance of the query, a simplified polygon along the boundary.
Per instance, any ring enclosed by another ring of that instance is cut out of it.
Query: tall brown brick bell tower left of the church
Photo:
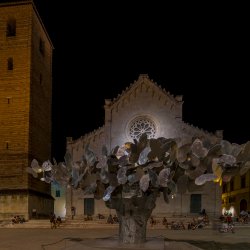
[[[54,210],[50,184],[26,171],[51,157],[52,52],[33,1],[1,1],[0,219]]]

